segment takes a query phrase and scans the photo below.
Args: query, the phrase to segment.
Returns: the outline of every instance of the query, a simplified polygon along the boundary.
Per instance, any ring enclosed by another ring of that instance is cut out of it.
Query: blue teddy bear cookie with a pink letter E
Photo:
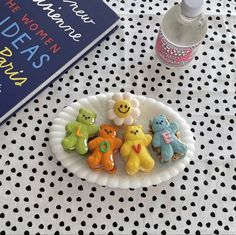
[[[158,115],[150,120],[150,127],[154,134],[152,146],[159,149],[161,160],[169,162],[183,157],[187,152],[187,145],[178,139],[178,126],[169,122],[165,115]]]

